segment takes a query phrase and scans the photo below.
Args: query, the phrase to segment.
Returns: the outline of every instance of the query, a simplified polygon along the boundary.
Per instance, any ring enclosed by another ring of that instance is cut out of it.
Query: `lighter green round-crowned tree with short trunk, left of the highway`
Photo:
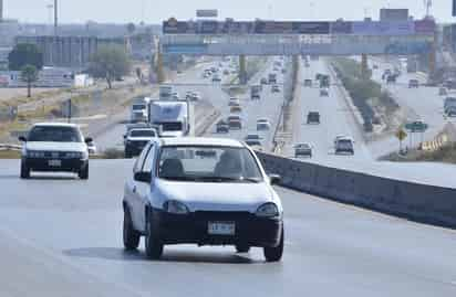
[[[102,45],[92,55],[89,72],[95,78],[106,79],[107,87],[112,88],[113,79],[128,74],[129,67],[129,59],[122,46]]]

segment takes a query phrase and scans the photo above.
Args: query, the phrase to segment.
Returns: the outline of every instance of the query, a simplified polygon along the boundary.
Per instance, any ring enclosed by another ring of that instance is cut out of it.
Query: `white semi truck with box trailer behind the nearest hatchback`
[[[188,100],[152,100],[149,123],[159,137],[195,136],[195,116]]]

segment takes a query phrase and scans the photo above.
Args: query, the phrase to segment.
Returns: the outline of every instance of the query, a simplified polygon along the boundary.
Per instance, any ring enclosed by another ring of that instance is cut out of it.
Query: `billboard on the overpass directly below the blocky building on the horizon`
[[[413,35],[415,24],[413,21],[403,22],[353,22],[353,34],[357,35]]]

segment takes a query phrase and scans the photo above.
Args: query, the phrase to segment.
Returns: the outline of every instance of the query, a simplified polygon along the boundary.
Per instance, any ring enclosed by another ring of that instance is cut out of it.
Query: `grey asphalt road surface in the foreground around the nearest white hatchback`
[[[91,179],[18,177],[0,161],[1,296],[439,296],[456,294],[454,231],[278,188],[286,250],[167,246],[159,262],[122,247],[133,160],[93,160]],[[106,174],[110,172],[110,174]],[[107,187],[108,185],[108,187]],[[27,284],[27,286],[24,285]]]

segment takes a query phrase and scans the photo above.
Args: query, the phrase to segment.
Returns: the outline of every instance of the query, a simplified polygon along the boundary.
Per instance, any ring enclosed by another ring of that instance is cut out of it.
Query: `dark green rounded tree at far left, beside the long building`
[[[25,65],[33,65],[37,70],[43,68],[43,53],[34,44],[19,43],[8,55],[9,68],[21,71]]]

